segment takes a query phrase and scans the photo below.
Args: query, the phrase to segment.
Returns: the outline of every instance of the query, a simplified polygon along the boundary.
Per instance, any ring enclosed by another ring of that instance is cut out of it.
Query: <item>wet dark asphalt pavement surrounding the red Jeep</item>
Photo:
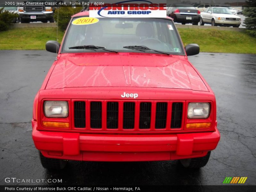
[[[221,185],[225,177],[248,177],[256,185],[256,55],[200,53],[189,60],[217,100],[221,139],[208,164],[197,171],[163,162],[76,162],[45,170],[31,138],[32,104],[55,59],[46,51],[0,51],[0,185],[5,178],[62,179],[84,185]],[[40,182],[39,185],[58,183]],[[60,184],[60,183],[59,183]]]

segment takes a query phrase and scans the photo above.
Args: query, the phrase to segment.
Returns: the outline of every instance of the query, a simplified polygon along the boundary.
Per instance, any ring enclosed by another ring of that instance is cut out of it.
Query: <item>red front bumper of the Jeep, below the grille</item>
[[[32,138],[45,157],[80,161],[162,161],[202,157],[216,148],[220,133],[84,134],[38,131]]]

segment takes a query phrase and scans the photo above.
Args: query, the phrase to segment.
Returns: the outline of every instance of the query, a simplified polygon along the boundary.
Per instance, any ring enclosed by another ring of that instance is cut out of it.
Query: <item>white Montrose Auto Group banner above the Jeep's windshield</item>
[[[90,17],[166,17],[166,1],[109,0],[108,3],[90,4]]]

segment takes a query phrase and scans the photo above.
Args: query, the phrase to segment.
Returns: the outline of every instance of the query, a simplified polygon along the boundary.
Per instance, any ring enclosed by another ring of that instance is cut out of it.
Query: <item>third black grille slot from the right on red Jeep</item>
[[[141,102],[140,103],[140,129],[149,129],[151,120],[151,103]]]

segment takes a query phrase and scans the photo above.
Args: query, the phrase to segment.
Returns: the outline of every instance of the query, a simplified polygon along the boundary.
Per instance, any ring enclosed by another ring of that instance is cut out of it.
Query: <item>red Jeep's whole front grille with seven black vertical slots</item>
[[[170,131],[182,126],[184,101],[82,100],[73,103],[75,128],[84,130]]]

